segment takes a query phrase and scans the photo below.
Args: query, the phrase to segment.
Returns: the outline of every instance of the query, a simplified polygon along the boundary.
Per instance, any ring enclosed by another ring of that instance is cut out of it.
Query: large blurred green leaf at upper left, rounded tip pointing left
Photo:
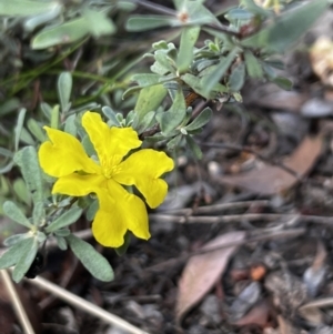
[[[87,19],[81,17],[42,30],[32,39],[31,48],[41,50],[59,44],[69,44],[82,39],[89,32],[90,27]]]

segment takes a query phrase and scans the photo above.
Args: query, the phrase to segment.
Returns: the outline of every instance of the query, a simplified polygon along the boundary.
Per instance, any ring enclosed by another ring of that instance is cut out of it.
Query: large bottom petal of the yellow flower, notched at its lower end
[[[99,210],[92,223],[95,240],[109,247],[119,247],[130,230],[135,236],[150,237],[148,214],[144,203],[130,194],[113,180],[108,182],[109,191],[99,189]]]

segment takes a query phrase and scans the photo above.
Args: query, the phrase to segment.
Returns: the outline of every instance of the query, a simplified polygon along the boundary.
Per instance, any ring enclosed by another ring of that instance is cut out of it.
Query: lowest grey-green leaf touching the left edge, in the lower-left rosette
[[[18,241],[0,257],[0,270],[16,265],[19,260],[26,254],[32,246],[34,237],[26,234],[26,239]]]

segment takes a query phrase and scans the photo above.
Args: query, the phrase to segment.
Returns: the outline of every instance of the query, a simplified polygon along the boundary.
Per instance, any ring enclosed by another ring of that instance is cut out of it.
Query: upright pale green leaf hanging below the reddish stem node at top
[[[185,27],[182,30],[180,48],[176,59],[176,68],[180,73],[186,72],[193,60],[193,48],[199,38],[200,27]]]

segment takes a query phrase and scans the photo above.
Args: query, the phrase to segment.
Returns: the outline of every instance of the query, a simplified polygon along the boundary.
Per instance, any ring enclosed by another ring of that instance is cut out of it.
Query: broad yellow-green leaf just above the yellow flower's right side
[[[155,111],[164,100],[167,92],[162,84],[143,88],[134,108],[139,119],[142,120],[147,113]]]

